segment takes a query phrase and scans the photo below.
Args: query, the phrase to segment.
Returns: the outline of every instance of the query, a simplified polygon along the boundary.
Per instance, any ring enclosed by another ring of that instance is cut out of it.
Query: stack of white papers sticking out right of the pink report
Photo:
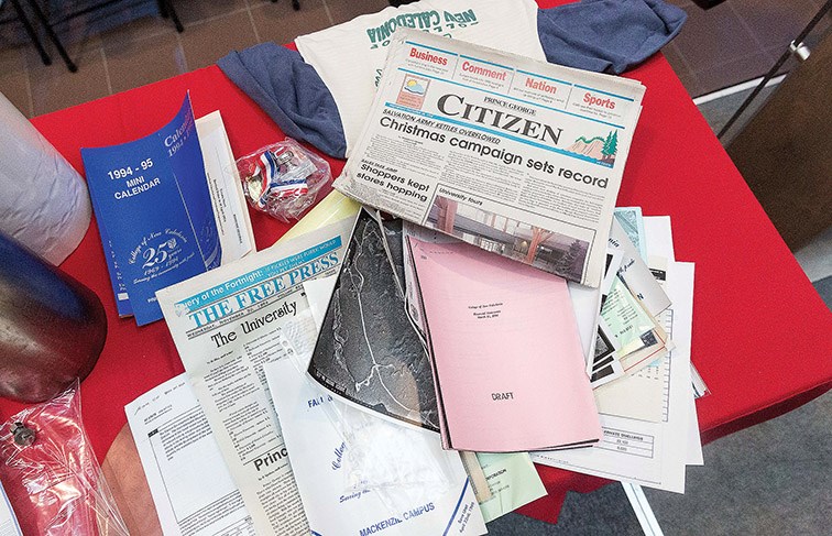
[[[690,363],[693,264],[676,262],[669,218],[645,217],[642,229],[633,242],[645,248],[655,266],[652,273],[670,303],[654,318],[658,330],[668,337],[666,344],[670,337],[674,344],[667,344],[666,351],[655,357],[639,357],[643,362],[631,362],[628,371],[625,357],[621,361],[624,373],[595,390],[603,430],[598,445],[581,451],[535,452],[533,459],[537,463],[682,493],[686,466],[702,463]],[[633,244],[626,240],[626,244]],[[626,283],[635,286],[632,275],[632,271],[620,274],[620,281],[626,278]],[[633,294],[627,285],[622,286],[621,292],[626,289],[628,299],[649,315],[650,299]],[[605,313],[612,315],[610,310]],[[631,321],[620,320],[622,325]]]

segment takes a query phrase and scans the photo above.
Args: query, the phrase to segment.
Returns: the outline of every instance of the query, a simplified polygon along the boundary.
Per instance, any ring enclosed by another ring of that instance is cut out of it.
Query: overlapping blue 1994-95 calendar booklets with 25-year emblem
[[[158,320],[156,291],[222,256],[190,97],[153,134],[81,157],[119,315]]]

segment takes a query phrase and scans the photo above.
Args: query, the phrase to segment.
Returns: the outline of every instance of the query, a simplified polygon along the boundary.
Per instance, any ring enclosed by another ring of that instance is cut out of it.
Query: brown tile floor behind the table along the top
[[[664,52],[691,97],[767,72],[824,2],[726,0],[702,10],[691,0],[669,1],[685,9],[689,19]],[[234,48],[264,41],[286,43],[381,10],[387,2],[302,0],[300,11],[293,11],[289,0],[176,0],[174,4],[185,25],[180,34],[161,17],[144,17],[102,33],[79,24],[58,26],[78,64],[75,74],[57,57],[44,66],[28,43],[6,45],[0,48],[0,91],[28,117],[40,116],[205,67]],[[0,19],[9,18],[13,19],[13,11],[4,2]],[[14,23],[0,25],[0,34],[10,24]],[[829,26],[824,21],[818,33]]]

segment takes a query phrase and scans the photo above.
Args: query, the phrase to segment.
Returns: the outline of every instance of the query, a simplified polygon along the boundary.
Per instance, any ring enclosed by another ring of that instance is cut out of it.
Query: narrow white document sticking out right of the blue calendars
[[[249,207],[219,110],[197,119],[196,129],[222,247],[222,264],[228,264],[255,250]]]

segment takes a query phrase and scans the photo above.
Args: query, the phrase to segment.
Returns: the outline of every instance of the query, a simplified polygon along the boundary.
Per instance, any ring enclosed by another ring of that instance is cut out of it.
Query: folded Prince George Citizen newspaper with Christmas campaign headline
[[[401,30],[335,187],[592,287],[644,87]]]

